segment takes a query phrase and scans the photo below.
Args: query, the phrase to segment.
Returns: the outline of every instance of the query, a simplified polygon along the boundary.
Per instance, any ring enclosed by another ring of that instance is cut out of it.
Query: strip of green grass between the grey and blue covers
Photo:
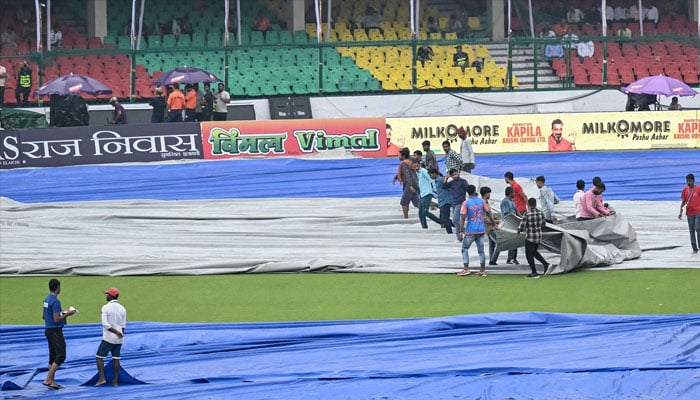
[[[0,278],[0,324],[43,324],[50,277]],[[700,269],[522,275],[299,273],[59,277],[71,323],[95,323],[116,286],[130,321],[247,322],[437,317],[490,312],[700,312]]]

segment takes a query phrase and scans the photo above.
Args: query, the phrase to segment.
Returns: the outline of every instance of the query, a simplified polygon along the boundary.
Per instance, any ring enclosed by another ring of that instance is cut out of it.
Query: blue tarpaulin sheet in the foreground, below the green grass
[[[69,325],[64,333],[68,360],[57,381],[66,388],[54,391],[41,385],[43,329],[0,327],[3,397],[700,398],[700,314],[135,322],[122,348],[122,379],[130,378],[119,388],[87,385],[101,326]]]

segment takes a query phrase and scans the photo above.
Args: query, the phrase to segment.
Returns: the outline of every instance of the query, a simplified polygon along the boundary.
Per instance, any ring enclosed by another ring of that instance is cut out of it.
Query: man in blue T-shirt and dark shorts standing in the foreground
[[[49,373],[42,385],[51,389],[63,389],[56,383],[56,371],[66,361],[66,339],[63,336],[63,327],[66,318],[75,314],[74,308],[63,310],[58,295],[61,294],[61,282],[58,279],[49,281],[49,294],[44,299],[44,334],[49,343]]]

